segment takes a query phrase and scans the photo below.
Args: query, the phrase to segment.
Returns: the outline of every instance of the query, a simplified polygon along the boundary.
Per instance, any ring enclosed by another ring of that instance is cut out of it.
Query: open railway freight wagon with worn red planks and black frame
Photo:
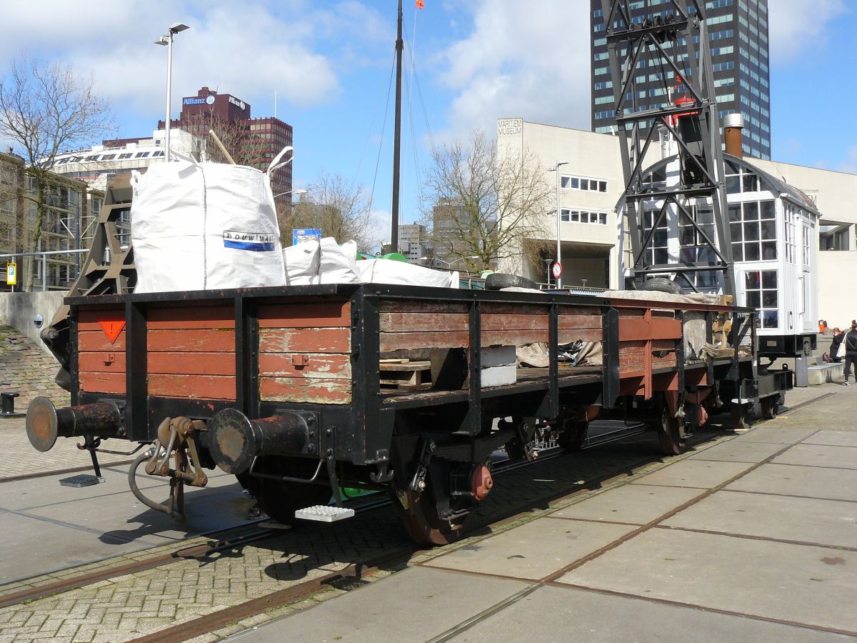
[[[532,459],[536,429],[581,448],[588,423],[612,413],[649,423],[678,453],[708,412],[771,414],[791,387],[790,371],[758,372],[757,312],[728,305],[376,284],[67,303],[73,406],[33,402],[35,448],[57,436],[85,436],[93,454],[105,438],[147,445],[132,490],[144,463],[171,478],[168,504],[140,495],[168,513],[214,466],[284,521],[332,493],[341,508],[341,487],[386,490],[423,544],[458,536],[494,484],[490,454]],[[704,346],[690,346],[691,323]],[[560,362],[576,340],[600,359]],[[483,385],[485,347],[534,342],[546,367]],[[382,358],[403,350],[430,357],[432,382],[382,387]]]

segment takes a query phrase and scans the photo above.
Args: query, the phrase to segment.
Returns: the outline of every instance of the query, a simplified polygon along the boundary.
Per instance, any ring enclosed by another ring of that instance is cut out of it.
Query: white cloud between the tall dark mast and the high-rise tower
[[[451,132],[493,132],[497,117],[590,128],[589,3],[478,0],[474,28],[443,54],[456,93]]]

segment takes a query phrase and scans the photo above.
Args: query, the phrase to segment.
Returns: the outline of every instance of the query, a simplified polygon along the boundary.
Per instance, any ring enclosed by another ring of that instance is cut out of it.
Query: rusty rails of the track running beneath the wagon
[[[798,405],[788,408],[789,411],[794,411],[800,407],[814,404],[815,402],[824,400],[830,397],[831,394],[825,394],[807,400]],[[698,445],[704,442],[716,440],[717,435],[700,435],[692,442],[692,445]],[[496,466],[496,475],[502,478],[522,468],[539,467],[544,463],[562,457],[565,453],[557,448],[548,452],[542,452],[539,459],[531,463],[499,463]],[[522,519],[524,516],[531,513],[532,508],[538,507],[542,503],[547,502],[563,502],[572,499],[574,496],[583,494],[587,490],[609,484],[614,478],[623,478],[626,475],[626,470],[650,464],[659,459],[659,456],[654,453],[640,454],[638,458],[631,462],[624,463],[620,468],[620,472],[608,472],[601,476],[584,478],[578,480],[573,485],[573,489],[566,493],[557,493],[555,490],[550,490],[541,496],[528,496],[523,502],[518,502],[512,505],[507,505],[504,514],[498,519],[496,515],[482,518],[474,516],[476,520],[468,525],[469,532],[476,532],[485,527],[492,526],[497,528],[506,523]],[[672,459],[670,459],[672,460]],[[363,496],[355,501],[350,502],[351,506],[356,509],[358,515],[365,516],[381,508],[386,508],[391,504],[391,501],[386,497]],[[482,518],[482,520],[480,520]],[[352,519],[354,520],[354,519]],[[92,586],[104,580],[117,579],[118,577],[127,576],[129,574],[137,574],[153,568],[160,568],[171,565],[177,562],[198,560],[205,563],[216,556],[219,552],[241,550],[249,544],[264,545],[267,539],[275,538],[283,534],[282,528],[266,527],[265,524],[269,519],[262,518],[255,522],[244,524],[243,526],[213,532],[208,536],[214,538],[215,534],[220,534],[216,539],[206,544],[197,544],[191,546],[179,546],[177,549],[160,553],[156,556],[150,556],[140,561],[128,562],[121,565],[108,566],[99,568],[85,574],[79,574],[69,577],[65,580],[57,580],[48,582],[43,585],[28,587],[27,589],[17,592],[11,592],[0,595],[0,609],[14,606],[16,604],[25,604],[37,601],[41,598],[50,597],[51,595],[69,592],[75,589],[80,589],[86,586]],[[303,530],[297,530],[298,532]],[[287,586],[279,591],[268,593],[258,598],[252,598],[240,604],[235,604],[221,610],[216,610],[205,616],[190,619],[186,622],[178,623],[170,628],[162,629],[152,634],[147,634],[141,637],[140,641],[177,641],[187,640],[193,636],[205,634],[218,628],[224,627],[232,622],[237,622],[248,616],[254,616],[266,610],[271,610],[280,605],[289,604],[297,599],[306,597],[321,589],[329,586],[336,586],[340,583],[348,583],[353,580],[360,580],[365,576],[374,574],[380,568],[387,568],[397,564],[405,564],[411,556],[414,556],[420,551],[417,545],[404,545],[396,547],[381,554],[381,556],[369,557],[363,562],[352,562],[347,567],[339,569],[335,572],[323,574],[311,580],[299,582],[297,584]]]

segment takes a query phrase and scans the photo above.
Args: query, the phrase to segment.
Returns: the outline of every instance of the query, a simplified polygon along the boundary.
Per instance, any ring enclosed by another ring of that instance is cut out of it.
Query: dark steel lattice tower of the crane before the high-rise
[[[667,0],[657,5],[656,13],[644,0],[644,13],[632,10],[639,0],[601,0],[614,87],[614,114],[622,165],[625,175],[625,202],[631,233],[633,270],[637,280],[653,274],[674,273],[695,288],[692,275],[722,272],[722,289],[734,294],[732,245],[726,219],[726,194],[723,188],[723,160],[720,126],[717,119],[714,78],[704,0]],[[688,7],[692,9],[689,10]],[[634,18],[642,18],[635,22]],[[694,37],[697,44],[694,43]],[[639,67],[645,69],[639,81]],[[638,102],[638,86],[645,85],[650,69],[660,69],[665,104],[652,107]],[[668,71],[686,91],[682,104],[669,100]],[[674,137],[679,148],[678,183],[663,189],[646,188],[643,163],[656,131],[663,128]],[[700,225],[697,208],[687,207],[693,199],[710,200],[716,234],[711,238]],[[704,264],[695,261],[655,264],[654,253],[647,252],[657,222],[646,230],[641,216],[642,201],[662,199],[657,218],[663,219],[668,207],[674,207],[680,221],[689,222],[698,232],[699,248],[710,248]],[[712,257],[714,258],[712,261]]]

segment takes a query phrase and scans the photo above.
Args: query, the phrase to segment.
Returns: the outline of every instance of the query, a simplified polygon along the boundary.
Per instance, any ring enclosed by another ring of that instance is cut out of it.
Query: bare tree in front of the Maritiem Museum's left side
[[[423,219],[434,227],[434,254],[471,272],[497,261],[538,254],[548,237],[551,187],[529,151],[500,154],[481,129],[466,144],[434,150],[426,172]],[[524,243],[527,241],[529,243]]]

